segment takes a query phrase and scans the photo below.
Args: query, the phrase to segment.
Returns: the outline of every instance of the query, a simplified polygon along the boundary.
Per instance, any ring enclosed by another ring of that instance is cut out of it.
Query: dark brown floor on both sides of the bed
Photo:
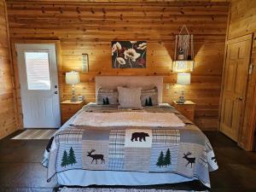
[[[19,132],[0,141],[0,192],[52,192],[56,181],[46,182],[46,169],[40,164],[48,141],[10,140]],[[210,175],[211,192],[255,192],[256,153],[241,150],[221,133],[205,133],[215,149],[219,166]],[[197,183],[183,183],[177,188],[188,189],[193,185],[198,187]]]

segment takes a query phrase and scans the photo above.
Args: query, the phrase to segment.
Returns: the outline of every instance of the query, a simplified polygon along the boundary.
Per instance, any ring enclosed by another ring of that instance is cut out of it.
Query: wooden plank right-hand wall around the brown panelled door
[[[247,150],[253,148],[253,131],[256,130],[256,1],[231,0],[227,38],[238,38],[252,33],[251,63],[254,67],[248,77],[245,116],[238,141],[239,145]]]

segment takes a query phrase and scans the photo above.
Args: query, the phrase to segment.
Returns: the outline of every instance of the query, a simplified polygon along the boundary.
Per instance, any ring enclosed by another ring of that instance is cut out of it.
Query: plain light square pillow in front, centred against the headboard
[[[143,108],[141,103],[142,88],[118,87],[119,108]]]

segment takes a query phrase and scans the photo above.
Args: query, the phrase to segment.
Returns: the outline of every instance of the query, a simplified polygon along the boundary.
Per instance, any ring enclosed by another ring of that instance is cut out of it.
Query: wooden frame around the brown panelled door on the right
[[[227,54],[228,54],[228,45],[229,44],[236,44],[236,43],[239,43],[241,41],[245,41],[245,40],[251,40],[251,52],[252,52],[252,46],[253,46],[253,33],[250,33],[250,34],[247,34],[247,35],[244,35],[244,36],[241,36],[241,37],[238,37],[238,38],[231,38],[231,39],[228,39],[226,38],[226,42],[225,42],[225,50],[224,50],[224,65],[223,65],[223,70],[222,70],[222,83],[221,83],[221,92],[220,92],[220,99],[219,99],[219,108],[218,108],[218,131],[221,131],[220,129],[220,124],[221,124],[221,116],[222,116],[222,108],[223,108],[223,94],[224,94],[224,74],[225,74],[225,71],[226,71],[226,60],[227,60]],[[250,58],[249,58],[249,62],[251,62],[251,59],[252,59],[252,54],[250,55]],[[248,69],[247,69],[248,70]],[[249,79],[249,75],[247,76],[247,84],[246,84],[246,93],[245,93],[245,103],[246,103],[246,100],[247,100],[247,86],[248,86],[248,79]],[[246,106],[243,105],[242,106],[242,111],[244,111],[246,108]],[[242,125],[243,125],[243,121],[244,121],[244,113],[242,113],[242,116],[241,116],[241,122],[240,122],[240,126],[239,126],[239,130],[238,130],[238,134],[240,135],[241,134],[241,128],[242,128]],[[240,136],[238,135],[238,141],[237,141],[237,145],[239,144],[239,140],[240,140]],[[253,142],[253,141],[252,141]],[[246,150],[252,150],[252,149],[248,149],[248,148],[244,148]]]

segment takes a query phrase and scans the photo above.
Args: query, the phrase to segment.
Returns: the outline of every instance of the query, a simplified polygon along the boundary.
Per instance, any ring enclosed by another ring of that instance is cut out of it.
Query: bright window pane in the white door
[[[50,90],[49,53],[25,52],[28,90]]]

